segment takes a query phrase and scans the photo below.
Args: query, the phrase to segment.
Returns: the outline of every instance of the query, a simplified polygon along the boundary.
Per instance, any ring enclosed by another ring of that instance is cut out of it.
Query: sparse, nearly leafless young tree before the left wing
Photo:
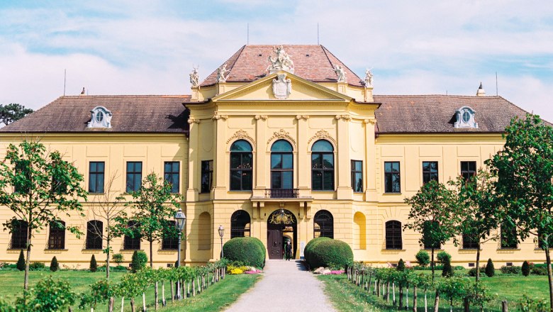
[[[106,183],[106,188],[103,195],[95,197],[93,204],[88,210],[89,218],[87,220],[99,220],[102,223],[91,223],[91,230],[94,234],[100,236],[106,241],[106,279],[109,280],[109,261],[111,252],[111,242],[113,238],[121,236],[121,232],[117,230],[118,223],[116,218],[123,216],[125,206],[123,205],[123,196],[116,194],[113,188],[113,182],[118,178],[117,172],[113,173]],[[99,226],[102,225],[102,228]],[[104,231],[103,226],[106,225]]]

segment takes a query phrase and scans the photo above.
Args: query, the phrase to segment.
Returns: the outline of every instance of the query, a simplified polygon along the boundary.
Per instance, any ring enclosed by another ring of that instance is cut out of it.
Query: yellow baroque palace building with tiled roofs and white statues
[[[355,260],[415,262],[425,246],[404,229],[404,199],[432,179],[474,174],[503,147],[510,119],[526,112],[482,86],[475,96],[376,95],[372,80],[322,45],[245,45],[203,81],[194,69],[189,95],[61,96],[0,129],[1,159],[9,143],[40,140],[74,163],[90,193],[86,217],[62,218],[84,235],[47,227],[33,238],[31,260],[103,260],[106,243],[91,228],[106,224],[91,206],[156,172],[184,197],[182,264],[220,257],[220,225],[223,243],[259,238],[269,259],[282,258],[287,240],[298,259],[309,240],[327,236],[350,244]],[[0,206],[2,223],[12,216]],[[534,238],[517,243],[506,239],[509,228],[498,231],[502,239],[484,243],[481,259],[542,262]],[[16,262],[25,240],[23,222],[0,231],[0,262]],[[474,240],[460,240],[440,249],[474,265]],[[140,238],[112,246],[125,263],[148,249]],[[157,266],[177,260],[175,240],[154,248]]]

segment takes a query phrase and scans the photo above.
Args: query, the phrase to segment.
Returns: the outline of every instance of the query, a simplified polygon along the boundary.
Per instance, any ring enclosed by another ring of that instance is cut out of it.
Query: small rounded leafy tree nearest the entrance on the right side
[[[432,180],[424,184],[417,194],[405,199],[405,202],[411,206],[406,228],[421,233],[420,243],[430,246],[433,280],[435,248],[451,238],[457,245],[456,225],[461,215],[457,211],[454,193],[446,189],[444,184]]]

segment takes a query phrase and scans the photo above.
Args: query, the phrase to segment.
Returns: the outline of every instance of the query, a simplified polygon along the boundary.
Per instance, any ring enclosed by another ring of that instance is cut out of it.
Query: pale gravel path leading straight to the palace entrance
[[[263,274],[227,312],[335,311],[323,293],[323,282],[301,262],[267,260]]]

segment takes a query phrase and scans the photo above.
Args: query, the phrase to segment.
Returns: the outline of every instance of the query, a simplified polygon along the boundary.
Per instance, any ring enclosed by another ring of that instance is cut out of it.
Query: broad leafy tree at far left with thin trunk
[[[82,174],[62,159],[60,152],[47,152],[45,145],[24,140],[10,144],[4,161],[0,162],[0,205],[7,206],[15,216],[3,223],[10,232],[27,225],[27,257],[24,289],[28,289],[31,240],[35,231],[55,224],[77,235],[77,226],[65,226],[60,217],[70,212],[82,215],[86,191]],[[13,191],[15,190],[15,191]]]

